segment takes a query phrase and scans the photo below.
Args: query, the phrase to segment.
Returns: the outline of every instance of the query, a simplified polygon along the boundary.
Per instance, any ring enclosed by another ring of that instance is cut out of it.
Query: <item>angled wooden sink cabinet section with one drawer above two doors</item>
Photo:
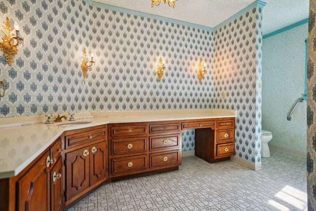
[[[64,206],[68,206],[108,178],[107,125],[63,133]]]

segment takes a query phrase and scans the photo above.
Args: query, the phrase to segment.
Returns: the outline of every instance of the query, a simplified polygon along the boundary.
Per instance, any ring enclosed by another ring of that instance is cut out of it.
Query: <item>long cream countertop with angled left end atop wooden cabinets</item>
[[[20,123],[0,128],[0,179],[17,175],[47,149],[64,131],[109,123],[156,122],[236,117],[235,110],[176,110],[92,112],[84,125],[58,126],[58,123]],[[5,122],[5,118],[2,119]],[[12,122],[12,121],[10,121]],[[68,121],[63,121],[68,122]]]

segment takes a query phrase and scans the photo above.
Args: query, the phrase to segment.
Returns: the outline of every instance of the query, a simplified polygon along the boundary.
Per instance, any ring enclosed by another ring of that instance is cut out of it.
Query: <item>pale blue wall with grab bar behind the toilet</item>
[[[292,120],[286,119],[304,96],[308,24],[263,40],[262,129],[269,144],[306,152],[306,101],[298,104]]]

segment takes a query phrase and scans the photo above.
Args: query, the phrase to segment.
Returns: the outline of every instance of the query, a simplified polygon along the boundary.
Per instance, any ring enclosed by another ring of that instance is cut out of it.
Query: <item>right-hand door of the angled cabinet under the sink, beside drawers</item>
[[[105,179],[108,175],[107,143],[101,142],[90,146],[90,186]]]

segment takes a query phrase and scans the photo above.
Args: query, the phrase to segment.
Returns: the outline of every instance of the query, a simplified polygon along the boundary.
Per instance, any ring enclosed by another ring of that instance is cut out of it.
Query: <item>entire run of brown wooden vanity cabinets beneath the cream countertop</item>
[[[0,210],[61,211],[103,182],[176,170],[186,129],[196,129],[197,157],[214,163],[234,155],[235,118],[68,130],[17,176],[0,179]]]

